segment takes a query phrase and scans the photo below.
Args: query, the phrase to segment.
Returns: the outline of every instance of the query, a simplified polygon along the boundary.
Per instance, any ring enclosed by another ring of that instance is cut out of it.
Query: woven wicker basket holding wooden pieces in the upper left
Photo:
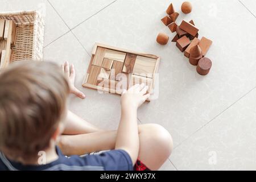
[[[24,59],[43,59],[44,22],[36,11],[0,13],[0,19],[13,20],[16,42],[10,62]]]

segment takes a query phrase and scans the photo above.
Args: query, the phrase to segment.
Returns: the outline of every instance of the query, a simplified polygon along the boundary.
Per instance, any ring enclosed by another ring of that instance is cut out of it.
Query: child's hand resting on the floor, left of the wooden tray
[[[67,77],[67,80],[69,82],[69,87],[70,87],[70,93],[75,94],[77,97],[80,98],[85,98],[85,94],[83,94],[79,89],[77,89],[74,85],[75,83],[75,77],[76,77],[76,72],[74,65],[71,64],[71,67],[69,69],[69,64],[67,61],[65,61],[64,64],[61,64],[61,69],[63,70],[63,73],[65,77]]]

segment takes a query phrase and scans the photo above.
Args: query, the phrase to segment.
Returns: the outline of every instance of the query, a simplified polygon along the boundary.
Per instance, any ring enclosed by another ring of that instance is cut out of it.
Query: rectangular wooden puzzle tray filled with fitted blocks
[[[96,43],[82,86],[101,92],[121,94],[134,84],[154,90],[160,57]]]

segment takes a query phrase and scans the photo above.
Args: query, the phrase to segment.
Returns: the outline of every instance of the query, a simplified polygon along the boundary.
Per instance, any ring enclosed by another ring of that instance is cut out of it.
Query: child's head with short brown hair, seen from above
[[[0,151],[28,159],[46,150],[66,113],[68,93],[53,63],[20,61],[0,73]]]

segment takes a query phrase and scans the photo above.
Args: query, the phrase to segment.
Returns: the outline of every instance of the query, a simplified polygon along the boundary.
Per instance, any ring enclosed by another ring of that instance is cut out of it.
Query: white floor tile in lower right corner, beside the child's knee
[[[179,170],[255,170],[256,89],[175,148]]]

